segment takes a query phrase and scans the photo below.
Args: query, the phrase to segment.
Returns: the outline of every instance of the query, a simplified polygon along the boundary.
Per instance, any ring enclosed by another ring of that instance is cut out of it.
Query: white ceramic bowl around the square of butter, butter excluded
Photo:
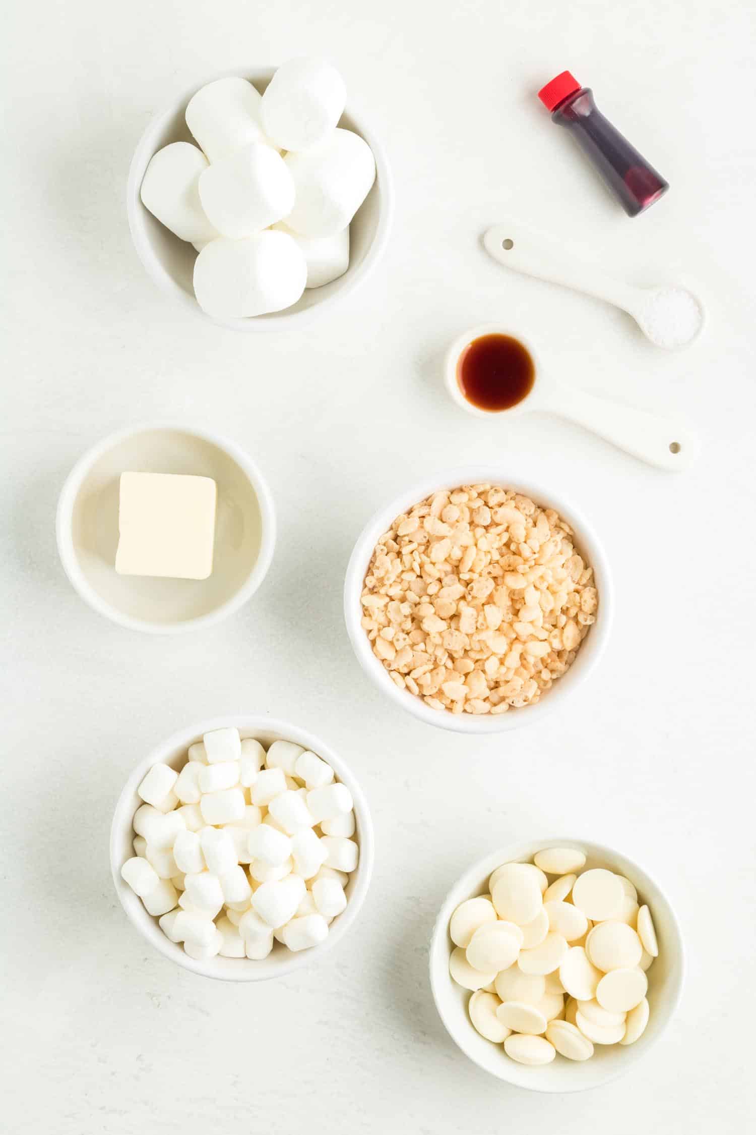
[[[213,478],[209,579],[116,572],[118,481],[126,470]],[[275,514],[262,473],[236,443],[181,423],[147,423],[111,434],[77,461],[60,494],[56,530],[66,574],[85,603],[121,627],[165,634],[220,622],[254,595],[273,555]]]

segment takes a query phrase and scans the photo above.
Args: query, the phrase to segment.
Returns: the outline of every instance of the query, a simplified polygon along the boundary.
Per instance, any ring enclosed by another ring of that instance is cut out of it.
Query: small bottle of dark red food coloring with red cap
[[[637,217],[666,193],[664,178],[596,109],[593,91],[580,86],[569,72],[546,83],[538,98],[552,119],[571,132],[629,217]]]

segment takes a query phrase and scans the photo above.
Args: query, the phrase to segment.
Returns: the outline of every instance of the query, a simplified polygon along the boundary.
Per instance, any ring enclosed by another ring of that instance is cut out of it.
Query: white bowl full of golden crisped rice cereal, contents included
[[[534,722],[585,680],[613,599],[588,521],[551,488],[462,469],[408,489],[363,530],[345,619],[366,674],[431,725]]]

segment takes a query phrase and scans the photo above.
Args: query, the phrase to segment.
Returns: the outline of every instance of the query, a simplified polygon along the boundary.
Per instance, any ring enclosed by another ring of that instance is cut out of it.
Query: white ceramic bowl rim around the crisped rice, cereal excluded
[[[396,516],[411,508],[414,504],[423,501],[432,493],[476,482],[501,485],[504,488],[515,489],[517,493],[523,493],[532,497],[536,504],[555,508],[574,528],[577,547],[585,553],[588,563],[593,568],[598,590],[596,622],[583,640],[577,657],[567,673],[562,674],[535,705],[524,706],[520,709],[510,709],[509,713],[498,714],[494,717],[487,714],[476,716],[474,714],[452,714],[449,711],[433,709],[431,706],[425,705],[422,698],[415,697],[408,690],[399,689],[391,681],[388,671],[380,659],[373,654],[372,644],[360,625],[363,611],[359,599],[367,568],[379,537],[390,528]],[[402,493],[391,504],[382,507],[366,524],[357,539],[351,558],[349,560],[343,587],[343,612],[347,631],[359,664],[368,678],[372,679],[380,690],[396,701],[397,705],[419,717],[421,721],[427,722],[428,725],[450,729],[458,733],[500,733],[506,730],[517,729],[520,725],[533,724],[542,718],[544,714],[555,709],[566,697],[569,697],[578,684],[585,681],[597,664],[606,646],[612,625],[613,611],[614,598],[609,564],[592,524],[588,523],[586,518],[569,501],[566,501],[551,486],[535,481],[529,477],[523,478],[516,469],[507,469],[506,466],[474,466],[452,470],[450,473],[441,473],[421,481],[419,485],[415,485]]]

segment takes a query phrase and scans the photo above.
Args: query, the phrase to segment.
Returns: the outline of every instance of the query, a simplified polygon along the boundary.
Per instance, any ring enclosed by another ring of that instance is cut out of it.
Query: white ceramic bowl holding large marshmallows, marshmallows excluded
[[[194,295],[192,277],[196,252],[186,241],[173,236],[142,204],[139,188],[150,159],[170,142],[194,142],[186,125],[185,111],[193,94],[206,83],[230,75],[241,75],[249,79],[262,93],[270,83],[274,67],[239,67],[233,70],[209,75],[194,83],[169,107],[159,111],[139,140],[127,186],[128,222],[131,238],[139,260],[147,274],[163,291],[169,292],[186,308],[209,319]],[[343,276],[323,287],[306,291],[301,299],[284,311],[255,316],[250,319],[215,319],[216,323],[243,331],[289,331],[295,325],[313,319],[343,299],[367,278],[383,254],[393,217],[393,186],[383,146],[365,117],[357,112],[351,102],[345,110],[340,126],[354,131],[365,138],[375,157],[375,184],[357,210],[349,228],[349,268]]]

